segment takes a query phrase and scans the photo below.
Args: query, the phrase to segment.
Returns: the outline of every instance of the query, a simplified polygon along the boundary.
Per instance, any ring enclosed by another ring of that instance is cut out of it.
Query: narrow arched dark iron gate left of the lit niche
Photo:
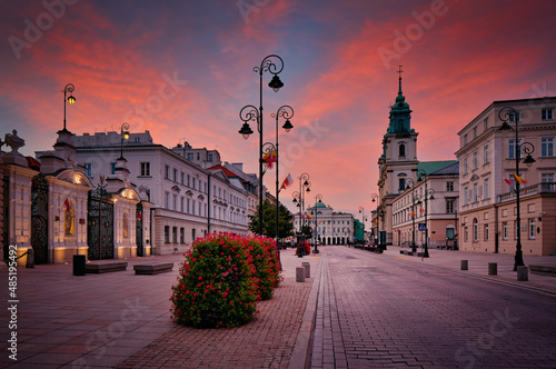
[[[31,247],[34,263],[48,263],[48,181],[42,173],[31,181]]]

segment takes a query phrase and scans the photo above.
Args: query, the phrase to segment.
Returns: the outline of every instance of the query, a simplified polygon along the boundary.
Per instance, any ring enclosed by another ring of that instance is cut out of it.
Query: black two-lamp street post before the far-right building
[[[519,176],[519,160],[522,159],[522,152],[525,156],[524,163],[527,167],[530,167],[534,162],[535,159],[532,157],[532,153],[535,151],[535,147],[530,142],[523,142],[519,143],[519,112],[515,110],[514,108],[510,107],[505,107],[500,111],[498,111],[498,118],[503,121],[502,127],[499,128],[500,131],[505,130],[512,130],[512,126],[509,126],[509,121],[514,120],[516,123],[515,131],[516,131],[516,141],[515,141],[515,157],[516,157],[516,172],[515,176]],[[516,245],[516,255],[514,258],[514,271],[517,271],[517,267],[525,266],[523,261],[523,251],[522,251],[522,218],[519,215],[519,192],[520,192],[520,183],[517,180],[516,177],[515,179],[515,184],[516,184],[516,222],[517,222],[517,245]]]

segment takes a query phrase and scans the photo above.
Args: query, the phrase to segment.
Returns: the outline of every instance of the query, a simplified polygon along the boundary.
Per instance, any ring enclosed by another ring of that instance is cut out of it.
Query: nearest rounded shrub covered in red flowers
[[[237,327],[256,318],[256,269],[247,239],[207,235],[186,252],[172,287],[173,320],[196,328]]]

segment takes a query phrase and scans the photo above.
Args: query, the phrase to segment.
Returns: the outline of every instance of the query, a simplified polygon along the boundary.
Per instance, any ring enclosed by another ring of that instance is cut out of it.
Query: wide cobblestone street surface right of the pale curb
[[[327,248],[311,368],[554,368],[553,295]]]

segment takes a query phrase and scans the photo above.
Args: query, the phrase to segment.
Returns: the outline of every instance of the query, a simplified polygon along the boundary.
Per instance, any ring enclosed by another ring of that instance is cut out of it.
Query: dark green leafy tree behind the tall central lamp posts
[[[278,237],[286,238],[292,236],[294,216],[289,212],[289,210],[280,203],[278,208]],[[249,230],[254,233],[258,233],[259,231],[259,209],[254,216],[249,216]],[[262,202],[262,235],[275,238],[276,237],[276,206],[270,203],[270,201],[265,200]]]

